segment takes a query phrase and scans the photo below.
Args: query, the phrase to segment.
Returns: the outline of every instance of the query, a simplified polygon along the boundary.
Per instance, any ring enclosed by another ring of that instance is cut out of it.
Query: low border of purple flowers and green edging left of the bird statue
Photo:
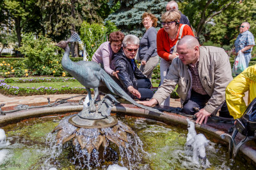
[[[43,94],[86,94],[85,87],[68,87],[68,85],[62,86],[60,89],[54,89],[52,87],[15,87],[6,83],[0,83],[0,93],[4,95],[13,96],[33,96]]]

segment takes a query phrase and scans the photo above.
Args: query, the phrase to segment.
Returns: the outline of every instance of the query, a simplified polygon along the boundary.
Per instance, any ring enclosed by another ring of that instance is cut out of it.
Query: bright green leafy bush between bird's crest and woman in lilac
[[[88,60],[92,60],[92,55],[99,48],[99,46],[108,41],[108,36],[111,32],[117,31],[115,24],[112,22],[105,22],[103,24],[89,24],[88,22],[83,22],[81,25],[80,33],[81,40],[86,46],[86,52],[88,53]]]

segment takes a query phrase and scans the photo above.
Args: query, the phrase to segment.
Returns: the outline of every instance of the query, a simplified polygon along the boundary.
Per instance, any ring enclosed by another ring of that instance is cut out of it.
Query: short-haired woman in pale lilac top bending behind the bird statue
[[[103,64],[104,70],[111,76],[118,78],[115,66],[111,63],[113,55],[122,47],[124,34],[121,31],[111,32],[109,41],[102,43],[92,56],[92,61]]]

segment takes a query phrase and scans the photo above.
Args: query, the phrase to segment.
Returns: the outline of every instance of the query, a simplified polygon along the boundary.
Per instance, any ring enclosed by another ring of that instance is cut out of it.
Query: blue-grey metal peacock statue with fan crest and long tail
[[[68,46],[68,43],[75,41],[81,41],[76,32],[72,34],[72,36],[67,41],[60,41],[60,43],[56,44],[56,46],[59,46],[60,48],[63,48],[63,50],[65,50],[65,53],[61,60],[63,69],[65,69],[65,71],[67,71],[70,75],[76,78],[76,80],[79,81],[86,88],[90,99],[90,111],[96,110],[95,99],[99,94],[98,87],[106,86],[116,96],[120,96],[140,108],[163,114],[159,110],[136,103],[136,101],[134,101],[96,62],[84,60],[81,60],[79,62],[73,62],[72,60],[70,60],[70,48]],[[94,89],[93,99],[91,96],[90,88]]]

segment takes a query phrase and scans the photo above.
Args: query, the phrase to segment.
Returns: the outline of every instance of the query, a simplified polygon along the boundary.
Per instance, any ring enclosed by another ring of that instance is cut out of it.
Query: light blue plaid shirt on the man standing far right
[[[248,45],[255,45],[255,41],[252,32],[247,30],[237,36],[235,41],[236,52],[239,52],[239,50],[242,50],[245,46]],[[244,53],[250,52],[252,52],[252,48],[246,50]]]

